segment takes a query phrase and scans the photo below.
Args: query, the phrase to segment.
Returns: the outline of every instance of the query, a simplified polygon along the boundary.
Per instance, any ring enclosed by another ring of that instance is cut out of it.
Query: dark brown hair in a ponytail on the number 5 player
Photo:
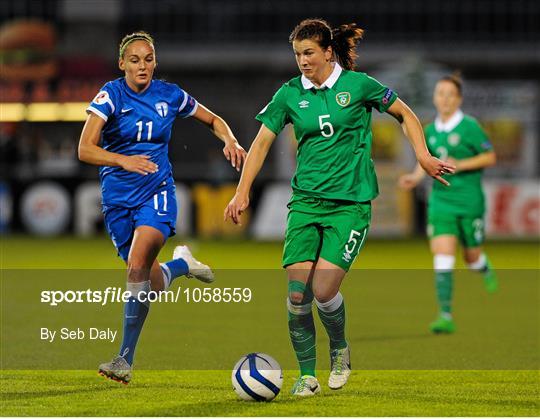
[[[346,70],[354,70],[357,58],[356,44],[364,31],[356,26],[356,23],[340,25],[337,28],[330,28],[330,25],[323,19],[305,19],[300,22],[291,32],[289,42],[312,39],[316,41],[322,49],[332,47],[339,64]]]

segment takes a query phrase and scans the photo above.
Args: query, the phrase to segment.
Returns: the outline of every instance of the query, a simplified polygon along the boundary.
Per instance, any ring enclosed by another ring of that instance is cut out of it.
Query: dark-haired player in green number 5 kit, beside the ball
[[[378,193],[371,160],[372,110],[387,112],[403,124],[418,161],[431,176],[447,184],[442,175],[454,169],[429,154],[418,118],[395,92],[352,71],[362,34],[355,24],[332,30],[319,19],[304,20],[293,30],[289,41],[302,75],[285,83],[257,115],[261,128],[236,195],[225,209],[225,218],[240,221],[272,142],[285,124],[292,123],[298,151],[283,266],[289,280],[289,332],[300,364],[300,378],[293,387],[298,396],[320,391],[315,377],[314,299],[330,338],[329,387],[343,387],[351,371],[339,288],[364,244],[371,200]]]

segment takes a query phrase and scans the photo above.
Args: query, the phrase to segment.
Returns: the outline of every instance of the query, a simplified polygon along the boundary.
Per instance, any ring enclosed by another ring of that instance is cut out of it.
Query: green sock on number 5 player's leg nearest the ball
[[[304,294],[300,304],[288,301],[289,310],[289,336],[296,353],[296,359],[300,365],[300,375],[315,376],[315,364],[317,362],[315,348],[315,323],[311,305],[313,291],[300,281],[289,281],[289,292],[301,292]]]

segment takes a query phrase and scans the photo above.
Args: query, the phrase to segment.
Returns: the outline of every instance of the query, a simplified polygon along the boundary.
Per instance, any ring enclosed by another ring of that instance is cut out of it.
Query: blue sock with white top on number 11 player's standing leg
[[[142,303],[136,296],[140,292],[148,293],[150,291],[150,281],[128,283],[127,290],[131,292],[132,296],[124,306],[124,337],[120,347],[120,355],[131,365],[135,355],[135,346],[150,309],[150,303],[146,301]]]

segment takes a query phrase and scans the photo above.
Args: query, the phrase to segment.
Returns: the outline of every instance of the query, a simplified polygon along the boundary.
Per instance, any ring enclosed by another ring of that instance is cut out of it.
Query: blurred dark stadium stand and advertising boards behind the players
[[[254,116],[298,71],[287,42],[305,17],[366,30],[358,69],[398,91],[422,122],[434,118],[437,78],[461,70],[464,110],[491,137],[499,163],[486,173],[491,238],[539,234],[540,3],[536,0],[384,2],[231,0],[4,0],[0,2],[0,228],[4,234],[102,236],[97,168],[77,160],[85,108],[120,77],[117,45],[146,30],[156,76],[179,83],[222,115],[248,149]],[[376,115],[381,186],[372,237],[423,235],[429,184],[399,191],[414,165],[399,126]],[[181,237],[281,240],[294,170],[292,131],[275,143],[254,191],[250,222],[222,222],[238,175],[192,120],[178,121],[170,156]]]

